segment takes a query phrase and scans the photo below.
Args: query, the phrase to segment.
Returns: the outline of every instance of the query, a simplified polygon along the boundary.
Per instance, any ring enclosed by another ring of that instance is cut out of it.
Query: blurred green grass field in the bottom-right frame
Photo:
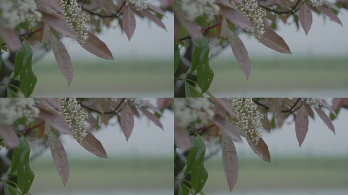
[[[239,157],[238,160],[238,180],[233,192],[312,189],[345,189],[348,192],[348,156],[276,156],[271,158],[271,163],[257,156]],[[209,178],[204,191],[227,194],[221,156],[207,160],[206,167]]]

